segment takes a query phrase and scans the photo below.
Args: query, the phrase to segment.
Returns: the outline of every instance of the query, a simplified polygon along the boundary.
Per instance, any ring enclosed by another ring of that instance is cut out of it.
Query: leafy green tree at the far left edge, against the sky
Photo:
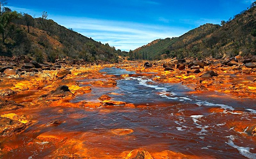
[[[2,16],[0,16],[0,34],[2,34],[3,43],[5,43],[5,39],[15,28],[15,25],[11,21],[19,18],[21,18],[21,14],[17,13],[17,11],[3,12]]]

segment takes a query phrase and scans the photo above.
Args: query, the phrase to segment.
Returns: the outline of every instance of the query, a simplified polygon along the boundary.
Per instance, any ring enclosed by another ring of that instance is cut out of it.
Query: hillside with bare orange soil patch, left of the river
[[[24,55],[38,62],[54,62],[67,56],[85,61],[116,62],[121,50],[65,28],[47,19],[47,16],[47,12],[43,12],[41,18],[33,18],[28,14],[21,15],[5,8],[0,16],[0,23],[5,24],[8,22],[5,21],[6,18],[12,18],[3,28],[3,32],[0,28],[0,33],[4,33],[1,36],[0,55]]]

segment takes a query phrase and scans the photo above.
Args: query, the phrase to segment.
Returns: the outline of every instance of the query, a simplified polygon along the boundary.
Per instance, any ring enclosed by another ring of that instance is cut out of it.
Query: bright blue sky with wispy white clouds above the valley
[[[177,37],[247,9],[255,0],[7,0],[12,10],[48,19],[129,51],[155,39]]]

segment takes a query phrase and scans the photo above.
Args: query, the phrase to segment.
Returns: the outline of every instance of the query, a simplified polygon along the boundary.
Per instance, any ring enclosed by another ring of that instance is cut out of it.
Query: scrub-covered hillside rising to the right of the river
[[[256,7],[241,11],[223,25],[205,24],[173,38],[157,39],[129,53],[130,59],[168,57],[222,58],[255,54]]]

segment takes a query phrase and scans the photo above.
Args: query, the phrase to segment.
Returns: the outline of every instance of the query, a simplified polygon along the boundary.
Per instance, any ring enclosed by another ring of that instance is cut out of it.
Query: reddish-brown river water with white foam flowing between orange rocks
[[[115,76],[135,74],[117,68],[101,71]],[[92,80],[96,79],[77,79],[82,86],[90,86]],[[76,134],[76,139],[82,140],[87,154],[93,158],[118,156],[124,151],[141,148],[152,153],[170,150],[201,158],[256,158],[255,136],[235,130],[237,123],[256,124],[255,99],[234,98],[220,92],[198,95],[192,91],[181,83],[166,84],[147,77],[127,77],[117,80],[114,88],[92,87],[90,93],[79,95],[71,102],[99,102],[101,95],[108,94],[113,100],[133,103],[136,108],[60,106],[31,112],[21,109],[20,113],[33,116],[36,122],[21,135],[2,143],[15,148],[4,158],[50,158],[49,155],[56,151],[51,142],[29,145],[42,133]],[[218,108],[223,110],[214,113]],[[40,126],[52,120],[65,123]],[[133,133],[110,133],[115,129],[132,129]]]

